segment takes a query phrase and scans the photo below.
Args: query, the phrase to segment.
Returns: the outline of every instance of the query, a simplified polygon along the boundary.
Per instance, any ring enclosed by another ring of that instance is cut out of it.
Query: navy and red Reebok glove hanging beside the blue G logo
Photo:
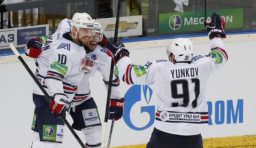
[[[113,116],[115,116],[115,121],[122,118],[124,113],[124,100],[125,98],[110,99],[108,119],[113,120]]]

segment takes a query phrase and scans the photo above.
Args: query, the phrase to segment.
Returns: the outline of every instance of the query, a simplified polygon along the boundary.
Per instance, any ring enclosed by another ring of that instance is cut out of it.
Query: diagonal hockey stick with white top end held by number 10
[[[52,100],[50,98],[50,96],[48,95],[48,93],[44,90],[43,86],[41,85],[41,83],[36,79],[36,76],[33,74],[33,72],[30,70],[30,68],[28,67],[27,63],[24,61],[24,59],[20,56],[20,53],[17,51],[17,49],[13,46],[12,43],[9,44],[10,48],[12,49],[12,51],[14,52],[14,54],[17,56],[17,58],[20,60],[20,62],[23,64],[23,66],[26,68],[26,70],[28,71],[28,73],[30,74],[30,76],[32,77],[32,79],[36,82],[37,86],[40,88],[40,90],[42,90],[42,92],[44,93],[44,96],[47,98],[47,100],[51,103]],[[74,131],[74,129],[71,127],[71,125],[68,123],[67,119],[61,115],[60,118],[62,119],[62,121],[67,125],[68,129],[71,131],[71,133],[75,136],[77,142],[82,146],[82,148],[86,148],[84,143],[82,142],[82,140],[79,138],[79,136],[76,134],[76,132]]]

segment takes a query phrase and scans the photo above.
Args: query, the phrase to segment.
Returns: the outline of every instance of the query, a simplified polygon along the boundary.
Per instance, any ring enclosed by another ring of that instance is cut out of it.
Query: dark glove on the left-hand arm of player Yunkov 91
[[[107,44],[107,53],[109,57],[112,57],[113,62],[116,64],[119,59],[121,59],[124,56],[129,57],[129,51],[125,48],[124,43],[114,41],[108,41]]]

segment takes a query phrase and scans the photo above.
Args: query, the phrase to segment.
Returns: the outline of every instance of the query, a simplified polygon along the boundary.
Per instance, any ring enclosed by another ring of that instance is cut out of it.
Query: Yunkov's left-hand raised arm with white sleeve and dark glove
[[[119,76],[127,84],[153,84],[156,81],[156,65],[148,63],[144,66],[132,64],[129,51],[124,43],[108,41],[108,55],[117,63]]]

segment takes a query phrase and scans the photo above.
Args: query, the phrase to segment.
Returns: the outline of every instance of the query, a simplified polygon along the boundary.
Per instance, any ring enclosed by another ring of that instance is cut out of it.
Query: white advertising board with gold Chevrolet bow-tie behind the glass
[[[103,33],[106,37],[114,37],[116,18],[96,19],[100,22]],[[118,37],[142,35],[142,15],[120,17]]]

